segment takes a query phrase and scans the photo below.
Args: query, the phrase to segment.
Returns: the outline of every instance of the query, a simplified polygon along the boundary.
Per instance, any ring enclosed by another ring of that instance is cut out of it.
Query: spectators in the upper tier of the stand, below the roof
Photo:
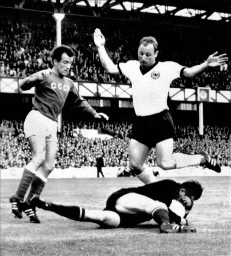
[[[110,75],[101,66],[92,39],[94,28],[94,24],[84,22],[78,22],[78,26],[73,24],[63,25],[63,42],[74,42],[72,45],[76,48],[70,77],[77,81],[129,83],[125,76]],[[107,36],[109,55],[115,63],[134,58],[131,48],[136,50],[137,46],[133,47],[131,44],[131,41],[134,41],[134,35],[131,31],[128,31],[126,27],[112,30],[105,25],[103,29]],[[0,28],[0,76],[25,77],[38,70],[51,67],[50,52],[55,45],[55,35],[54,25],[2,17]],[[84,42],[84,44],[81,42]],[[216,50],[217,48],[211,49],[210,53]],[[230,51],[229,47],[221,50]],[[191,66],[204,61],[202,56],[196,57],[196,55],[197,48],[194,46],[191,52],[176,49],[176,52],[172,52],[171,59],[164,60],[175,60],[181,64]],[[208,86],[212,89],[231,89],[231,71],[228,64],[213,71],[207,70],[198,77],[178,78],[172,82],[171,86]]]

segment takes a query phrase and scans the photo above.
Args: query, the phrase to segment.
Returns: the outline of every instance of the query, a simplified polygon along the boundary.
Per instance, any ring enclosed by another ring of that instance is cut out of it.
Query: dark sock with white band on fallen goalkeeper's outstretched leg
[[[62,205],[50,202],[46,209],[78,221],[83,220],[85,216],[85,209],[80,206]]]

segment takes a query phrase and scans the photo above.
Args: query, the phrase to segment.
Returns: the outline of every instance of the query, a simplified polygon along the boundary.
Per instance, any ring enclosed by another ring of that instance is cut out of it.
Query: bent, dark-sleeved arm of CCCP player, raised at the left
[[[30,88],[36,85],[37,81],[42,80],[46,76],[50,75],[50,73],[51,73],[51,69],[48,68],[48,69],[40,70],[34,74],[31,74],[25,77],[20,82],[20,88],[22,90],[29,90]]]

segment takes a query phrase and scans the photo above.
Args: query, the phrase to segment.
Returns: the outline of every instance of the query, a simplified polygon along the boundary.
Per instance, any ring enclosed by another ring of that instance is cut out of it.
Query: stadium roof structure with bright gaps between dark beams
[[[9,3],[10,2],[10,3]],[[231,22],[231,0],[1,0],[0,5],[136,20],[145,14]]]

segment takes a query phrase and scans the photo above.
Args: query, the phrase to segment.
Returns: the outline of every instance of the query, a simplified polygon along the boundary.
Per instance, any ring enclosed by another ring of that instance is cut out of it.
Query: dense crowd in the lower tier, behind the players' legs
[[[128,143],[131,130],[129,121],[108,122],[109,128],[123,131],[125,138],[113,137],[88,139],[81,134],[73,136],[76,127],[97,129],[97,122],[63,122],[63,134],[58,136],[58,152],[55,166],[57,168],[95,166],[96,156],[103,155],[105,166],[127,166]],[[208,151],[219,160],[222,166],[231,166],[231,128],[228,126],[206,126],[205,134],[199,135],[192,125],[177,125],[178,139],[174,151],[197,153]],[[31,158],[28,142],[23,133],[23,122],[2,120],[0,124],[0,168],[23,167]],[[149,166],[155,166],[155,149],[147,158]]]

